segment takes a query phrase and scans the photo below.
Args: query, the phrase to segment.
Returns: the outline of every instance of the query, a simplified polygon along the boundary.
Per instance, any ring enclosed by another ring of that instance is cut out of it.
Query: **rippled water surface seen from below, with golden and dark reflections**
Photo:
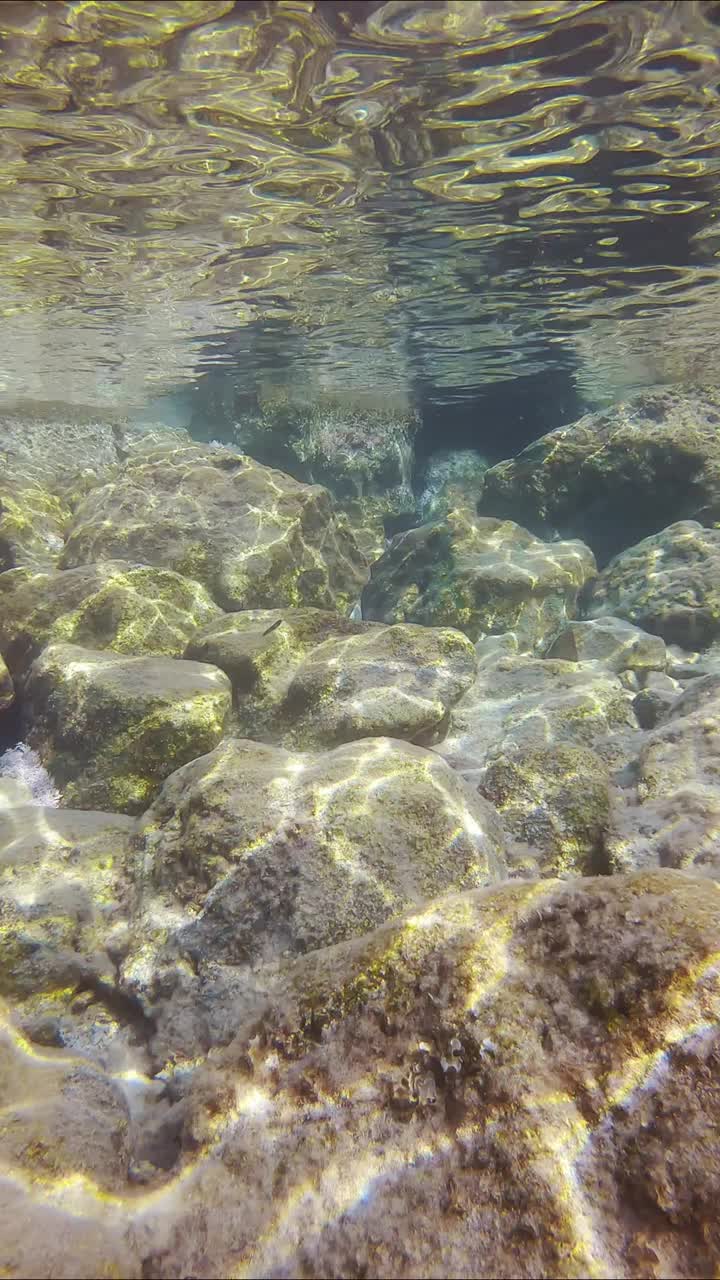
[[[720,5],[0,5],[0,379],[711,376]]]

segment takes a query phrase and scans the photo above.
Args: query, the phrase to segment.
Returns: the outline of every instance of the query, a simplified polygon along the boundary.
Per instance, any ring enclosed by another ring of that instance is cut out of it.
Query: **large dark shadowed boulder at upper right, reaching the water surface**
[[[720,520],[720,392],[647,392],[550,431],[484,476],[480,511],[600,563],[676,520]]]

